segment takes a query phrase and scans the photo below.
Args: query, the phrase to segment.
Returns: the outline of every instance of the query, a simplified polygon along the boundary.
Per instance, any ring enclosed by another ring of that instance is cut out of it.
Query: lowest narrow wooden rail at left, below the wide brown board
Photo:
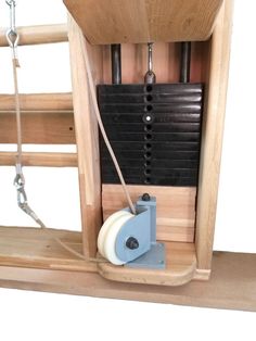
[[[0,166],[13,166],[16,153],[0,152]],[[77,167],[75,153],[31,153],[23,152],[23,165],[36,167]]]

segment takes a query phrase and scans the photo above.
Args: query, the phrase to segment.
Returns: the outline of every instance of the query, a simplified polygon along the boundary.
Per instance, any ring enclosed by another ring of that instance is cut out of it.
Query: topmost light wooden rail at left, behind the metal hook
[[[18,45],[38,45],[67,41],[66,24],[17,27]],[[0,30],[0,47],[7,47],[7,29]]]

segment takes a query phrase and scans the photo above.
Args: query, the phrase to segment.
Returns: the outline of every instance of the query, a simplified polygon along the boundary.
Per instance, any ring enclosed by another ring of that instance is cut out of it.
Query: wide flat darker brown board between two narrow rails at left
[[[29,97],[26,100],[28,102],[23,106],[35,106],[29,103]],[[55,106],[55,111],[22,111],[23,143],[76,143],[73,111],[59,110],[57,105],[62,104],[44,103],[46,108]],[[43,109],[42,103],[39,106]],[[13,111],[0,111],[0,143],[16,143],[16,116]]]

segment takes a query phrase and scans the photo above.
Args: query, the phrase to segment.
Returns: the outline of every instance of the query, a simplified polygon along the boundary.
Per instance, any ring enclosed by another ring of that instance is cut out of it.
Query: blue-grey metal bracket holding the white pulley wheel
[[[129,209],[124,209],[129,211]],[[129,267],[165,268],[165,245],[156,242],[156,199],[142,198],[136,203],[137,215],[121,227],[115,242],[115,252]],[[127,240],[133,237],[139,245],[129,249]]]

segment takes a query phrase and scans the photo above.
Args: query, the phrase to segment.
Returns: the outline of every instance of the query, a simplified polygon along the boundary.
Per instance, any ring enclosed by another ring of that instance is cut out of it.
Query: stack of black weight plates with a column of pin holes
[[[107,137],[127,184],[196,186],[202,84],[99,85]],[[118,184],[101,139],[102,182]]]

